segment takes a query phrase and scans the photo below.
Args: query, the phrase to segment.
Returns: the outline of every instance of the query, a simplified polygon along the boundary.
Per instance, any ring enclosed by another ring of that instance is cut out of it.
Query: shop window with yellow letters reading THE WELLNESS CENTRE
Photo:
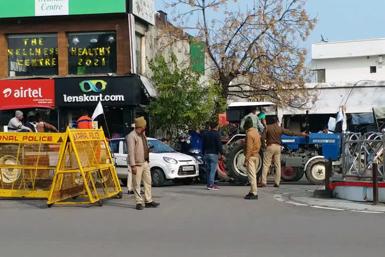
[[[57,34],[9,35],[9,76],[57,75],[58,51]]]

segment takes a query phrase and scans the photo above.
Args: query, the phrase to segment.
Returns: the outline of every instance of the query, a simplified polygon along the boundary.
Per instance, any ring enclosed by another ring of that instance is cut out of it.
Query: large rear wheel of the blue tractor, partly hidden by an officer
[[[245,145],[242,140],[231,144],[226,151],[224,162],[227,175],[240,184],[246,184],[248,182],[247,170],[246,167],[243,166],[245,162],[245,155],[243,154],[244,147]],[[260,152],[259,165],[256,173],[262,170],[262,160],[263,152]]]

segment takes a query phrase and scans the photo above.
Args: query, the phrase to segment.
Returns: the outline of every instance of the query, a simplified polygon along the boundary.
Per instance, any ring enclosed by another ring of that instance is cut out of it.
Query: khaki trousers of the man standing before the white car
[[[144,202],[150,203],[151,199],[151,172],[148,162],[142,166],[136,166],[136,175],[132,174],[132,183],[136,199],[136,204],[143,204],[143,198],[140,195],[140,182],[143,180]],[[128,182],[128,181],[127,181]]]

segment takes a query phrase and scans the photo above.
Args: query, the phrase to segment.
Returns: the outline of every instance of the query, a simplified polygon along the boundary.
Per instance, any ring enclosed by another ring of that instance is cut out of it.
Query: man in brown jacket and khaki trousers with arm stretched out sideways
[[[274,187],[279,187],[279,182],[281,181],[281,136],[297,136],[297,137],[306,137],[309,136],[306,132],[295,133],[289,130],[284,129],[279,126],[279,119],[277,116],[273,117],[273,123],[266,126],[266,120],[262,122],[265,126],[265,129],[262,133],[262,147],[265,149],[263,153],[263,169],[262,169],[262,180],[259,187],[266,187],[267,182],[267,172],[270,169],[271,160],[274,161],[276,176]],[[266,143],[265,143],[266,140]],[[266,146],[266,148],[265,148]]]

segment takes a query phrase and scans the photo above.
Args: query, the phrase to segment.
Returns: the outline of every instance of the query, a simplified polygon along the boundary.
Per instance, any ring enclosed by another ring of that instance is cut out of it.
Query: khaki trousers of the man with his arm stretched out
[[[276,171],[275,184],[279,185],[279,182],[281,181],[281,146],[270,146],[266,147],[265,152],[263,152],[261,184],[266,184],[267,182],[267,173],[269,172],[272,159]]]

